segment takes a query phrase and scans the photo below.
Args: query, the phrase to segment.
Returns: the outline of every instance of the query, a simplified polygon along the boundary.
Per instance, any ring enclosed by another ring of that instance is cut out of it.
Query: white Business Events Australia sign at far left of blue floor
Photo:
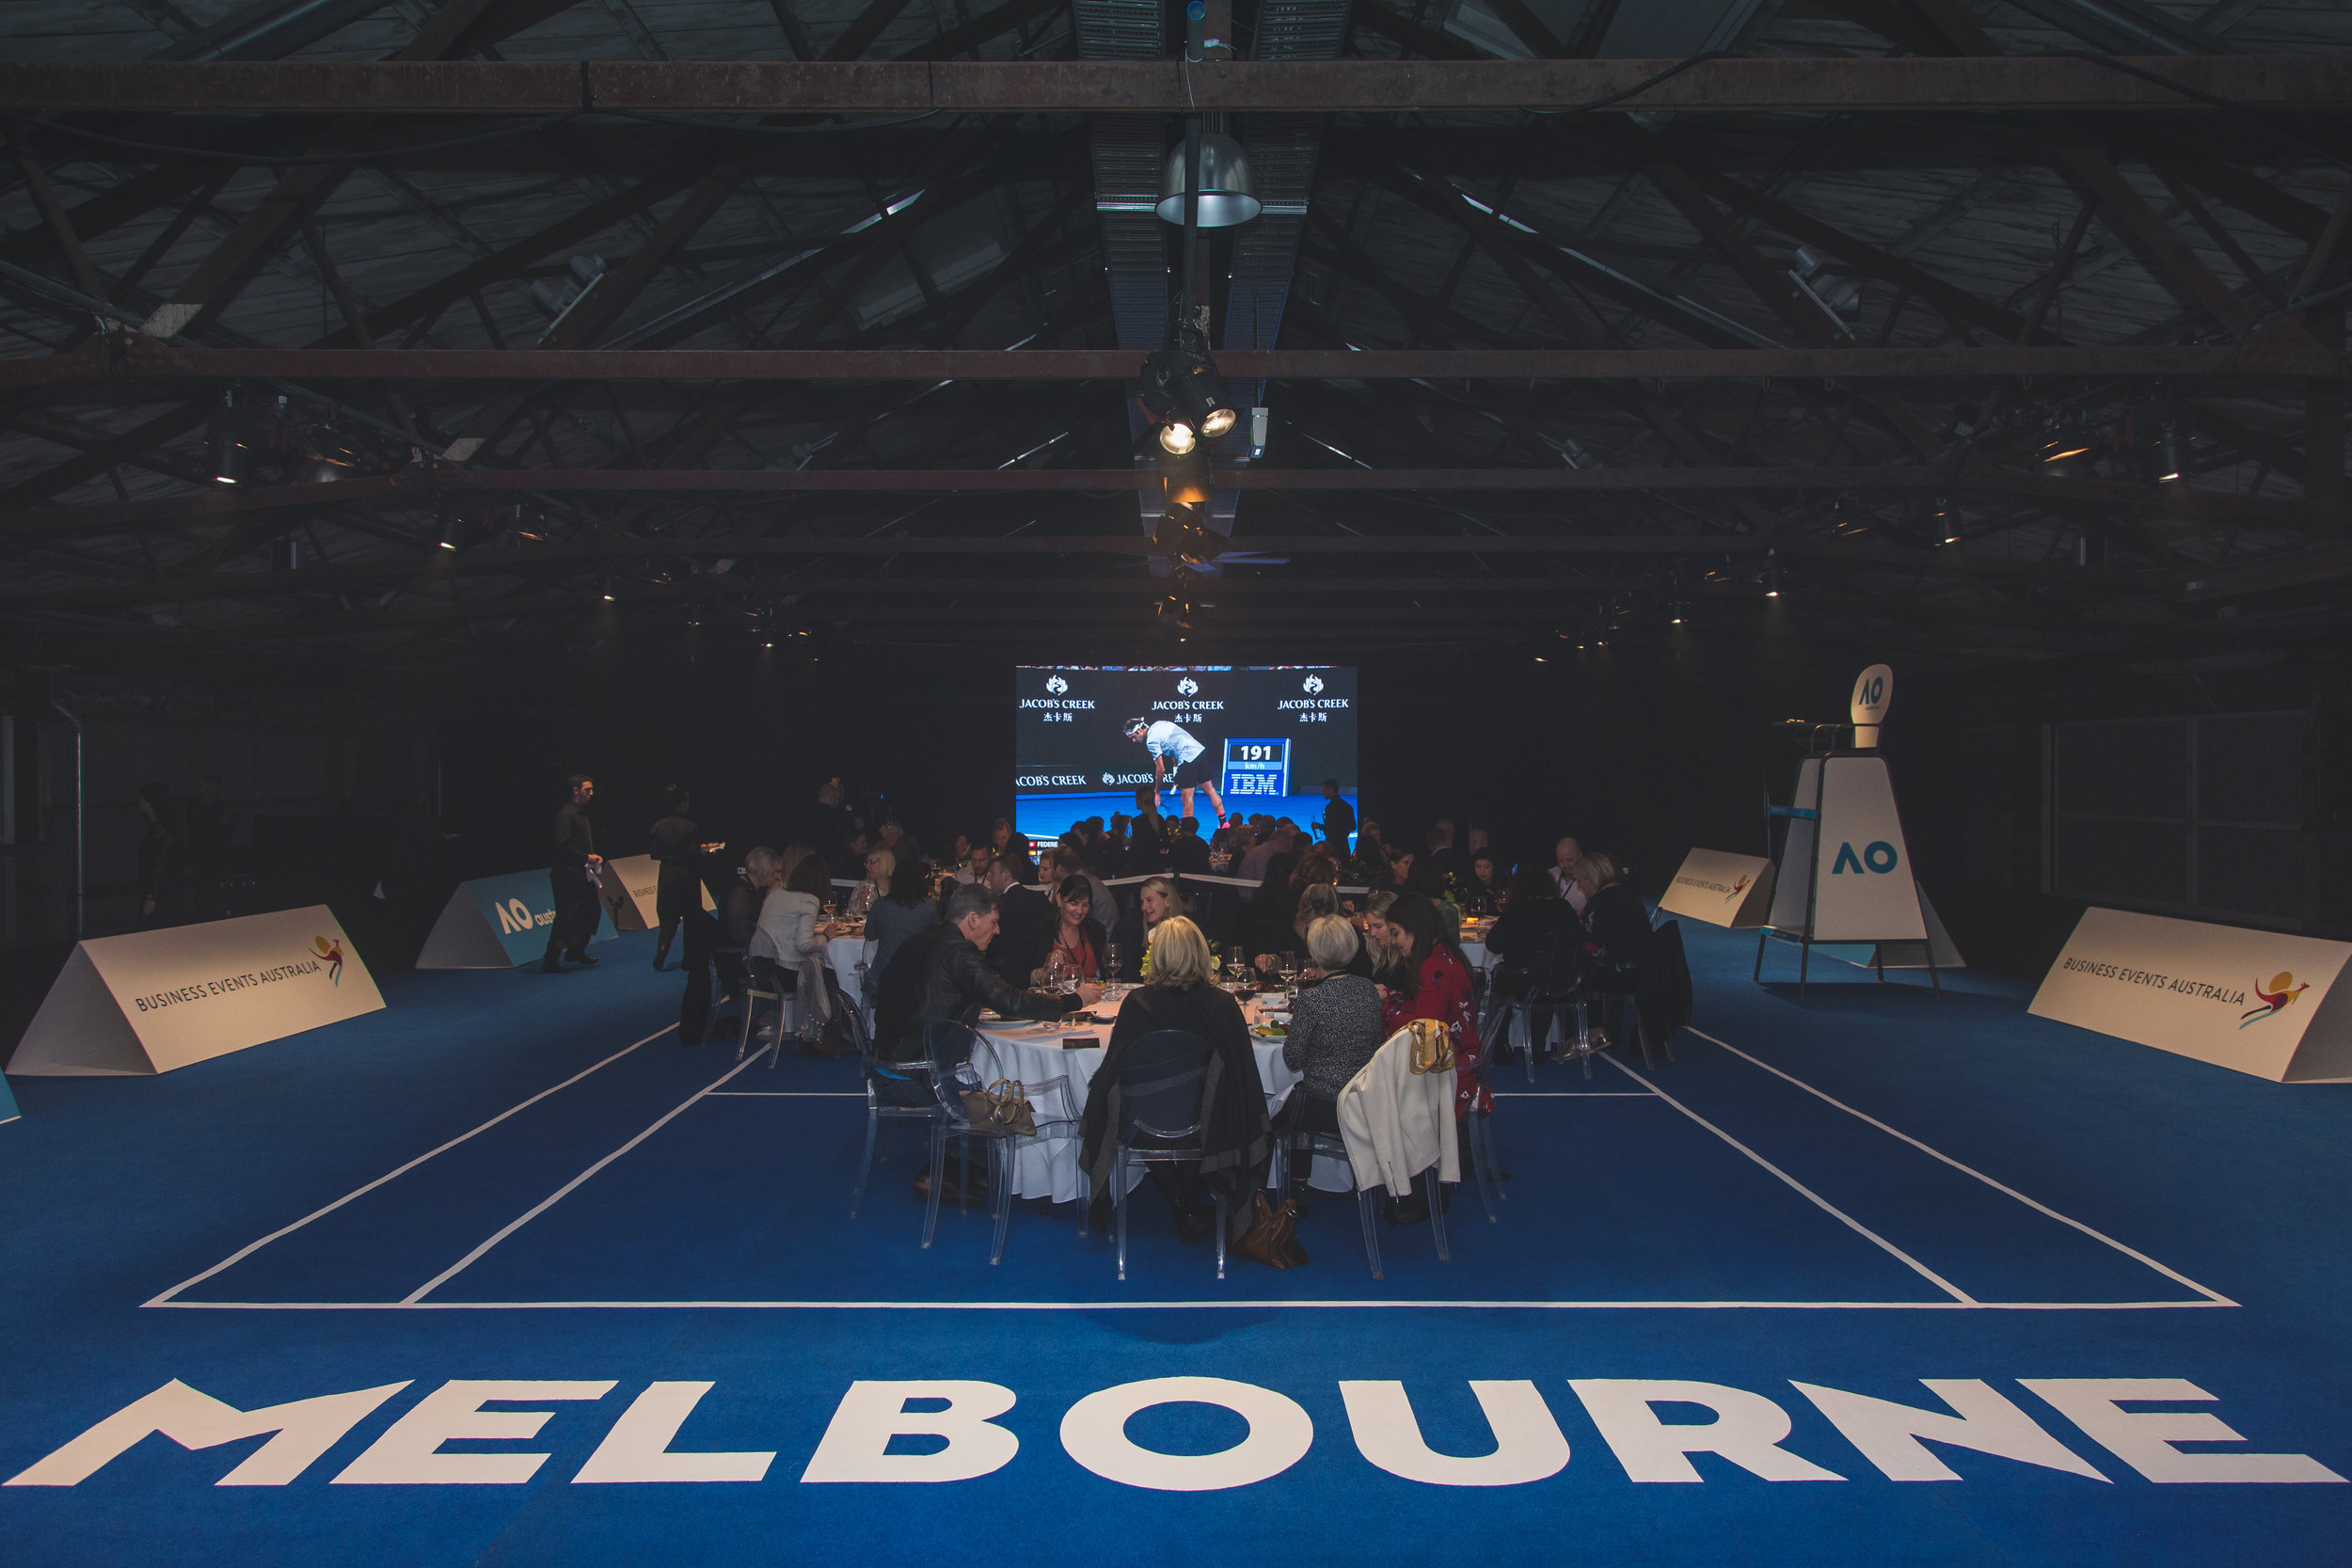
[[[75,945],[7,1070],[172,1072],[383,1009],[325,905]]]

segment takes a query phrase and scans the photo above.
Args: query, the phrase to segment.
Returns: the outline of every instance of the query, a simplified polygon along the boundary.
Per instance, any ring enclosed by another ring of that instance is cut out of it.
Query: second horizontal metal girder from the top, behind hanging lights
[[[381,315],[372,320],[381,327]],[[1251,348],[1235,381],[1966,381],[1983,376],[2343,376],[2300,334],[2239,343],[1983,348]],[[0,360],[0,388],[94,381],[1129,381],[1122,348],[172,348],[134,334]]]

